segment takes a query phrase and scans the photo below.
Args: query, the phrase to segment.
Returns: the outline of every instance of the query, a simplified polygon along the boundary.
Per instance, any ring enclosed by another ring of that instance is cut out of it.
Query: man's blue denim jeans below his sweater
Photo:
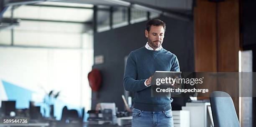
[[[163,112],[133,109],[132,127],[173,127],[172,109]]]

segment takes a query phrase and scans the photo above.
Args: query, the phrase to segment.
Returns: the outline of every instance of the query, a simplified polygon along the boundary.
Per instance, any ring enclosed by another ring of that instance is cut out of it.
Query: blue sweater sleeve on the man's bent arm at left
[[[147,88],[144,85],[145,80],[137,80],[136,57],[131,52],[127,58],[125,74],[123,77],[123,85],[125,90],[137,92]]]

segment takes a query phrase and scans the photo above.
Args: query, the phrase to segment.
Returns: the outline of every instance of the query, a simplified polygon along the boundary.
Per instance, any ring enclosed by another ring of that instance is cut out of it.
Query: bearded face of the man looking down
[[[148,38],[148,45],[156,50],[163,43],[164,27],[151,25],[149,32],[145,30],[145,35]]]

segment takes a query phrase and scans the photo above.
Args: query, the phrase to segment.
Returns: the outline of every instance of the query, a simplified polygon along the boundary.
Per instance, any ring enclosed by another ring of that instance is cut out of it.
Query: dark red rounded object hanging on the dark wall
[[[100,85],[102,81],[100,70],[92,69],[92,71],[88,74],[88,80],[92,91],[97,92],[100,90]]]

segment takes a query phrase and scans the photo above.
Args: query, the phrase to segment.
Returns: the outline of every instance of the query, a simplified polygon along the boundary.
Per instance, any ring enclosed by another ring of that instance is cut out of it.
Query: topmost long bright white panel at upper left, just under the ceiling
[[[10,17],[10,14],[10,9],[8,9],[3,16]],[[15,9],[13,15],[14,18],[86,22],[92,20],[93,10],[23,5]]]

